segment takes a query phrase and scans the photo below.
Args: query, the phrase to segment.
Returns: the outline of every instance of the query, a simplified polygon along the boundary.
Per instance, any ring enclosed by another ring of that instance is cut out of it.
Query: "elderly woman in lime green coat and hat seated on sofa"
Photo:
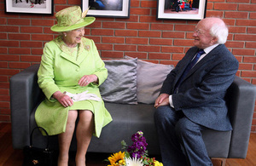
[[[88,11],[88,10],[87,10]],[[38,70],[38,84],[46,98],[38,106],[36,122],[49,135],[58,135],[58,165],[67,165],[68,151],[75,123],[76,165],[85,165],[85,154],[92,135],[99,137],[102,128],[112,121],[99,92],[108,77],[95,43],[84,37],[84,26],[94,22],[80,7],[62,9],[55,14],[52,31],[60,36],[46,43]]]

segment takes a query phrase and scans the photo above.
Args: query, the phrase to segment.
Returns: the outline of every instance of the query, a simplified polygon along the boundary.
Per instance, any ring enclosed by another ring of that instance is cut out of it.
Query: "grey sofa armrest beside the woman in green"
[[[33,65],[10,78],[12,139],[15,149],[29,145],[30,114],[42,100],[38,87],[38,67]]]

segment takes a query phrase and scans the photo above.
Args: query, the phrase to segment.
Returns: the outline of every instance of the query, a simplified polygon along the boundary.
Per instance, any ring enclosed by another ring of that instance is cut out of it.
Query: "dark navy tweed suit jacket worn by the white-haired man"
[[[178,93],[173,94],[178,78],[197,51],[196,47],[188,50],[166,77],[160,93],[172,94],[174,109],[182,111],[191,121],[210,129],[230,130],[224,95],[239,64],[224,44],[219,44],[201,59],[183,79]]]

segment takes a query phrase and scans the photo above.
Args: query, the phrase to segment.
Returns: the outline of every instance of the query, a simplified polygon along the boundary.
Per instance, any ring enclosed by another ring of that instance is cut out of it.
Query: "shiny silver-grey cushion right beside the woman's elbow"
[[[99,87],[102,99],[121,104],[137,104],[137,59],[104,60],[108,78]]]

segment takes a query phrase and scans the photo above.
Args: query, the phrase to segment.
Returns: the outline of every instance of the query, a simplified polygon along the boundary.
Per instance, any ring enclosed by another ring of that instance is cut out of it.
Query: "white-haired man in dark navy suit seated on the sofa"
[[[224,95],[238,61],[224,46],[228,28],[218,18],[198,22],[190,48],[166,77],[154,121],[165,166],[212,165],[201,130],[231,130]],[[199,54],[198,54],[199,52]]]

